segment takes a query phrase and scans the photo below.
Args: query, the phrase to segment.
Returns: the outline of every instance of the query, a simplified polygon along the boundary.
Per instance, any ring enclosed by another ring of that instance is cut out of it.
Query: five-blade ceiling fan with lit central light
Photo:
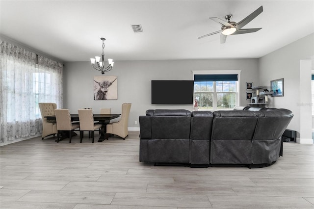
[[[233,15],[226,15],[225,16],[225,19],[228,22],[221,20],[217,17],[209,18],[209,19],[215,21],[216,23],[219,23],[221,25],[221,29],[218,31],[209,33],[207,35],[203,35],[201,37],[198,37],[198,39],[221,32],[220,44],[224,44],[224,43],[226,43],[226,38],[228,35],[236,35],[236,34],[256,32],[256,31],[262,29],[262,27],[259,27],[259,28],[242,28],[242,27],[245,26],[246,24],[248,24],[249,22],[251,22],[254,18],[256,18],[259,14],[261,14],[262,11],[263,11],[263,6],[260,6],[257,10],[252,12],[249,16],[247,16],[246,18],[244,18],[243,20],[241,20],[238,23],[230,22],[230,19],[232,18]]]

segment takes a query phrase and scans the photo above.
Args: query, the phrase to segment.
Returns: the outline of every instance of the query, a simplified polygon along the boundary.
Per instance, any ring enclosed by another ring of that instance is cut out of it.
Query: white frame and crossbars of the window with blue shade
[[[229,75],[229,74],[237,74],[237,82],[236,82],[236,104],[235,106],[239,106],[240,104],[240,83],[241,83],[241,70],[195,70],[192,71],[192,80],[194,80],[194,75]],[[216,81],[215,81],[216,82]],[[216,111],[216,110],[227,110],[227,109],[219,109],[217,108],[217,94],[224,93],[224,92],[217,92],[216,91],[216,83],[214,82],[213,88],[213,109],[199,109],[200,111]],[[228,92],[230,93],[230,92]],[[194,94],[194,93],[193,93]],[[193,108],[193,107],[192,107]]]

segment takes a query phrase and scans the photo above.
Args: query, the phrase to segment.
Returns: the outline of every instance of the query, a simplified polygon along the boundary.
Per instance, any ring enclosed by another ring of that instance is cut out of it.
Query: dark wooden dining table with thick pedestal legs
[[[72,121],[79,121],[78,114],[70,114]],[[106,125],[110,120],[120,117],[121,114],[93,114],[94,121],[99,121],[102,124],[102,128],[100,130],[100,137],[98,142],[104,141],[107,137],[106,135]],[[55,115],[45,116],[47,120],[55,120]]]

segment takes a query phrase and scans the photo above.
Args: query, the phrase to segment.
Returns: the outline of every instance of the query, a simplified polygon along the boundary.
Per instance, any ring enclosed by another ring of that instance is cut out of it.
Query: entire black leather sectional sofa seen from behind
[[[191,167],[264,167],[282,156],[288,109],[236,107],[226,111],[156,109],[139,116],[139,161]]]

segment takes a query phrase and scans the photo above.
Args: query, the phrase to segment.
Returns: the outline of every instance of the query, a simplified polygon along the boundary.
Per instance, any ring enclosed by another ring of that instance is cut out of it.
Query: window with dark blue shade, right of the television
[[[197,100],[199,110],[233,109],[239,104],[238,71],[237,74],[221,74],[221,71],[218,71],[220,74],[204,73],[193,72],[194,99]]]

